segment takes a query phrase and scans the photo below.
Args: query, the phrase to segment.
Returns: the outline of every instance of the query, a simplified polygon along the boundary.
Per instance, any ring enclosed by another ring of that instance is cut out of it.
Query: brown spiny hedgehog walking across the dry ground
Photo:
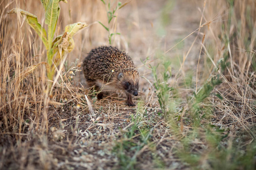
[[[92,49],[83,61],[83,71],[89,87],[96,91],[122,90],[127,95],[127,105],[135,106],[131,98],[138,96],[139,72],[125,52],[113,46]],[[102,99],[103,93],[97,95]]]

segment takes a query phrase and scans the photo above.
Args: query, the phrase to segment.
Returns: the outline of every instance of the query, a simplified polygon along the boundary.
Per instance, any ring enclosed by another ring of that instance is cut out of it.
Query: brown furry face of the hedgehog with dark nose
[[[118,74],[118,86],[122,90],[125,90],[127,93],[134,96],[138,96],[139,89],[139,79],[138,76],[123,75],[123,73]]]

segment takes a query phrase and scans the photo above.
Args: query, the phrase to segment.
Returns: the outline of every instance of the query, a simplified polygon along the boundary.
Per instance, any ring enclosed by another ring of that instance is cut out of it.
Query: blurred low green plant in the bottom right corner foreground
[[[177,155],[192,169],[255,169],[256,145],[246,134],[231,137],[229,129],[209,124],[200,133],[195,131],[198,128],[181,140],[183,147],[177,150]],[[248,140],[251,143],[245,147]],[[207,150],[195,147],[201,141],[205,141],[203,147],[207,145]]]

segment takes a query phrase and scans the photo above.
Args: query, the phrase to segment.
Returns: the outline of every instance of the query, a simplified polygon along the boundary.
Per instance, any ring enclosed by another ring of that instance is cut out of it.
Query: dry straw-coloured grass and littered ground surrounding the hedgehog
[[[42,42],[21,16],[6,15],[20,7],[44,23],[40,1],[1,1],[0,169],[255,168],[255,6],[134,0],[118,10],[110,31],[121,35],[113,44],[129,52],[143,77],[137,107],[129,108],[119,92],[96,100],[80,74],[86,53],[108,44],[97,23],[107,22],[101,1],[61,3],[56,35],[67,24],[90,26],[75,36],[50,96],[44,65],[28,73],[46,61]],[[164,91],[164,120],[151,68],[160,63],[162,80],[168,61],[174,90]],[[217,76],[222,83],[213,86]]]

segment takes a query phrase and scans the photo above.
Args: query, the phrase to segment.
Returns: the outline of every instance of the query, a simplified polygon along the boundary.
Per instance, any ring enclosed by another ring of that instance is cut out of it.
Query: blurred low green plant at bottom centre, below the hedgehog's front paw
[[[113,147],[121,169],[137,169],[137,158],[142,154],[143,147],[154,147],[151,141],[152,129],[143,125],[142,115],[145,109],[138,104],[137,114],[131,114],[131,127],[122,131],[121,137]]]

